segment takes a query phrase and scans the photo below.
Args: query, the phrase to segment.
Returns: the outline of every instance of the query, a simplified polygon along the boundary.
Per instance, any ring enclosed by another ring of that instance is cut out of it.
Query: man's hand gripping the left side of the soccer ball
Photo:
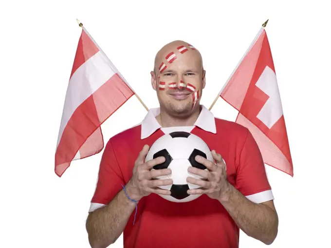
[[[153,170],[153,166],[165,162],[165,157],[157,157],[145,163],[146,155],[149,151],[149,146],[145,145],[143,150],[139,153],[138,158],[134,164],[133,173],[130,181],[126,186],[126,191],[129,197],[133,200],[139,201],[142,197],[150,193],[170,195],[170,191],[158,188],[159,186],[171,185],[171,179],[153,179],[158,176],[171,174],[170,169]]]

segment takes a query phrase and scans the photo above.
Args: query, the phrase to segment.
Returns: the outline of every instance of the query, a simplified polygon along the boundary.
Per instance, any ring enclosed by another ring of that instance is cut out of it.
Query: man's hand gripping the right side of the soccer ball
[[[212,151],[216,164],[202,156],[196,156],[195,160],[204,165],[209,171],[201,170],[195,167],[189,167],[188,172],[199,175],[202,179],[187,177],[187,182],[198,185],[202,188],[188,190],[188,194],[206,194],[212,199],[220,200],[226,191],[230,188],[230,183],[226,179],[225,163],[220,154]]]

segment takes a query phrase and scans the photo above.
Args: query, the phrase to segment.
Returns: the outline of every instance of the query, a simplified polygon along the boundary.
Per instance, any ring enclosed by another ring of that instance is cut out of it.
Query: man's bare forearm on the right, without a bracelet
[[[232,185],[229,185],[220,202],[248,236],[266,245],[274,242],[278,231],[278,216],[275,210],[251,202]]]

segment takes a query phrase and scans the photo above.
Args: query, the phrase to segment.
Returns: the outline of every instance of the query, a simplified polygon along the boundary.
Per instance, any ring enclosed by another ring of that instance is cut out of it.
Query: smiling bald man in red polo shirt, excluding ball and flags
[[[214,118],[200,105],[205,71],[199,51],[184,41],[165,45],[155,57],[151,83],[160,108],[105,147],[86,223],[91,247],[106,248],[123,231],[125,248],[238,248],[239,229],[273,243],[278,217],[257,143],[245,127]],[[170,194],[158,186],[172,181],[151,178],[171,171],[150,169],[164,157],[144,162],[153,142],[174,131],[202,137],[216,161],[197,156],[209,172],[189,168],[207,178],[187,178],[202,187],[188,191],[202,194],[191,202],[159,195]]]

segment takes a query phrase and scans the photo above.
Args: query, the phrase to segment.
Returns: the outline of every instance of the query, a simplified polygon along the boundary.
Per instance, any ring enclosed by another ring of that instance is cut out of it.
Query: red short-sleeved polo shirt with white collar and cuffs
[[[214,118],[205,107],[193,127],[161,128],[159,109],[143,122],[108,141],[100,164],[90,211],[108,204],[132,176],[134,161],[145,144],[173,131],[200,136],[220,153],[228,181],[253,202],[273,200],[261,153],[247,128]],[[124,229],[124,248],[238,248],[239,228],[221,203],[206,195],[186,203],[167,201],[157,194],[143,197]]]

